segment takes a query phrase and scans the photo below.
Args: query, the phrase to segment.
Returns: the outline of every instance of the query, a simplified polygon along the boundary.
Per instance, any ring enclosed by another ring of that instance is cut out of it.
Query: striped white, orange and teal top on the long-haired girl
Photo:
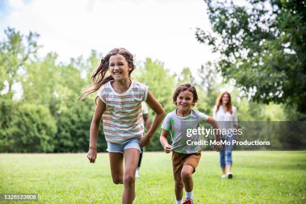
[[[111,81],[97,91],[99,98],[106,104],[103,112],[103,129],[105,140],[121,143],[143,135],[141,101],[145,101],[148,86],[131,80],[124,93],[117,93]]]

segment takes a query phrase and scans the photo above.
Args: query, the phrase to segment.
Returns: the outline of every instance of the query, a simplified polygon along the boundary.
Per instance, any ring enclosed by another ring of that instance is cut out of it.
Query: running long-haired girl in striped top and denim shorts
[[[123,184],[122,203],[132,203],[135,196],[135,170],[140,146],[146,146],[160,124],[164,110],[145,86],[130,79],[134,70],[132,54],[124,48],[110,50],[94,70],[93,84],[86,88],[81,99],[97,91],[98,102],[90,125],[87,158],[96,159],[96,140],[102,117],[107,151],[109,152],[112,181]],[[106,72],[108,76],[106,77]],[[156,113],[151,128],[143,136],[141,101]],[[124,157],[124,171],[123,171]]]

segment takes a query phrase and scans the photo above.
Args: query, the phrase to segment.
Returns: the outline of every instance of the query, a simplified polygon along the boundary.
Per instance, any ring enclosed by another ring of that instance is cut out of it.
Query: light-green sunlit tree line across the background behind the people
[[[5,34],[0,41],[0,152],[87,151],[96,94],[80,102],[77,97],[91,83],[91,72],[102,53],[92,50],[87,58],[79,56],[63,63],[57,61],[54,52],[43,57],[37,55],[41,47],[37,44],[37,33],[24,36],[8,27]],[[166,113],[175,108],[172,104],[175,87],[188,81],[196,86],[199,96],[194,108],[208,115],[212,115],[220,89],[231,87],[239,120],[290,119],[283,104],[251,101],[241,95],[235,84],[217,80],[222,77],[213,62],[200,65],[196,73],[184,67],[179,74],[170,74],[162,62],[146,58],[131,77],[149,86]],[[149,118],[153,118],[151,110]],[[160,131],[159,128],[155,132],[146,150],[162,150]],[[98,151],[105,151],[106,146],[100,125]]]

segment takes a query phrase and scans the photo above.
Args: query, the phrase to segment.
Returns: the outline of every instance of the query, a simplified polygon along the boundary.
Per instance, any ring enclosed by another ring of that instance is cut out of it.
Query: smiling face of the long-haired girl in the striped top
[[[116,54],[109,57],[110,75],[115,80],[127,79],[128,72],[130,70],[131,67],[128,67],[126,59],[121,54]]]

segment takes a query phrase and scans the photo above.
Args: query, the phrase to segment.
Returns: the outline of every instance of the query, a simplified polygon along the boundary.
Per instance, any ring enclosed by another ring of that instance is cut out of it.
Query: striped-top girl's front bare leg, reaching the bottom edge
[[[139,150],[128,148],[124,150],[124,173],[122,204],[130,204],[135,196],[135,171],[139,160]]]

